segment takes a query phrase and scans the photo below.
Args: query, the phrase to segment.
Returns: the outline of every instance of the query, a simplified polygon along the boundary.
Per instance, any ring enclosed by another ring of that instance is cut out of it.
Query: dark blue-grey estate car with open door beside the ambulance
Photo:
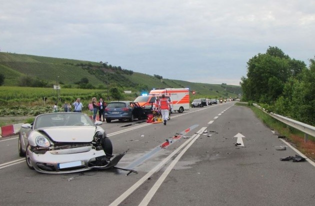
[[[111,101],[107,103],[105,108],[106,122],[109,123],[114,119],[133,121],[135,118],[146,118],[146,114],[137,102]]]

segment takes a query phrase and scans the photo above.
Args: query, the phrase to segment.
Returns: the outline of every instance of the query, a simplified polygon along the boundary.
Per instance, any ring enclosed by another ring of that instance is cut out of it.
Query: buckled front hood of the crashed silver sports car
[[[90,142],[93,140],[95,126],[67,126],[42,129],[53,140],[58,142]]]

